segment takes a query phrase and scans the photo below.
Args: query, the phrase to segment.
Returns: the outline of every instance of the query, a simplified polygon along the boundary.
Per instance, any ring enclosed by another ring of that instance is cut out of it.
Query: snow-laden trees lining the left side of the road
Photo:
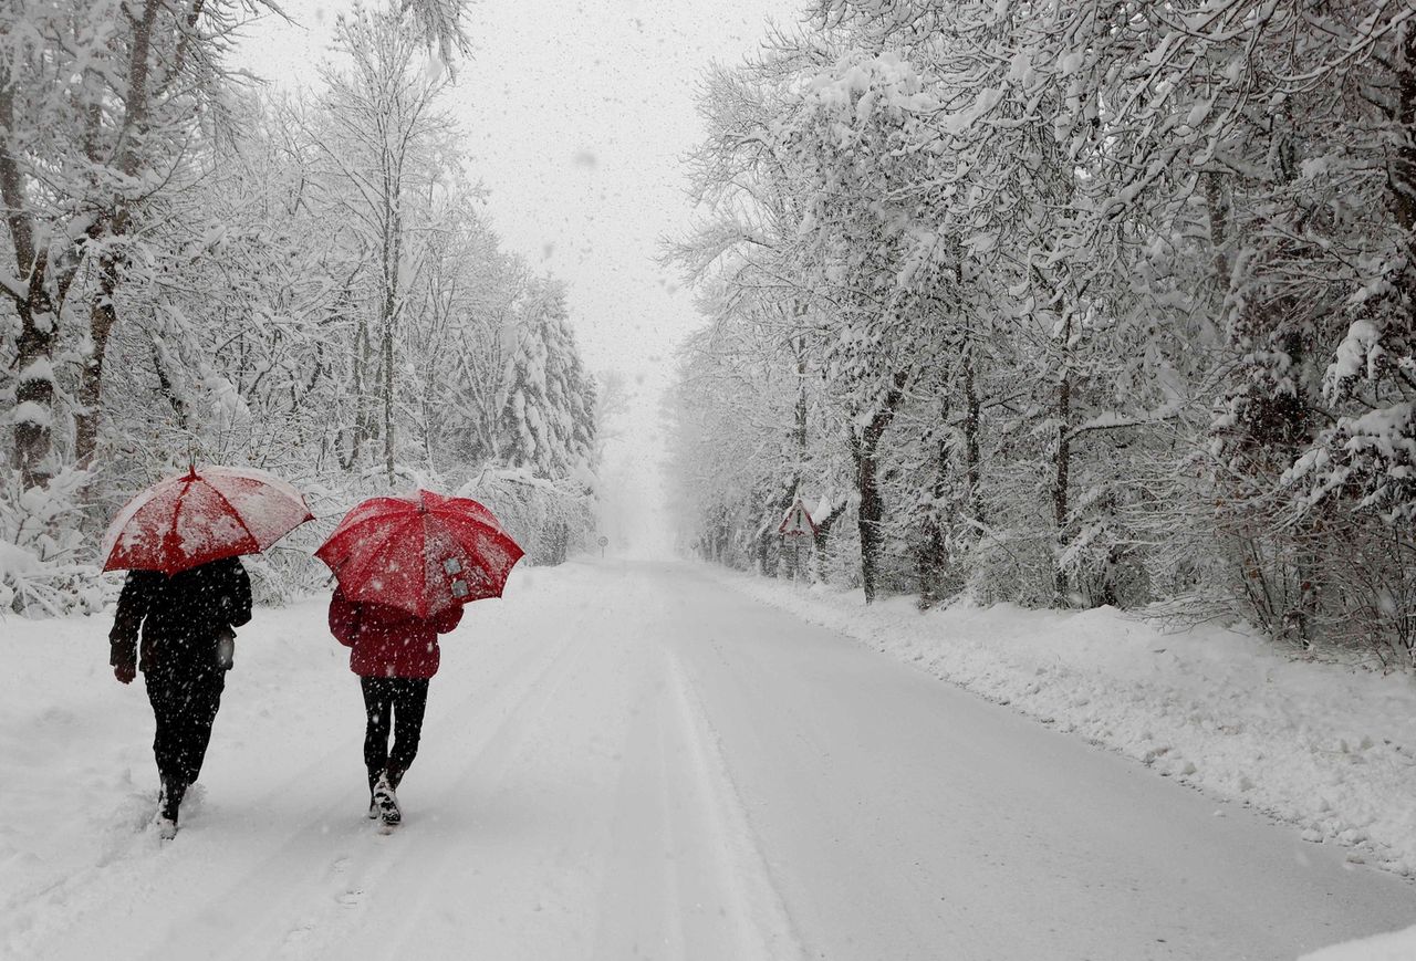
[[[273,468],[321,514],[480,478],[537,559],[583,542],[593,382],[564,294],[528,311],[554,282],[503,248],[439,112],[460,8],[351,13],[324,85],[292,96],[222,71],[251,4],[0,13],[6,604],[101,604],[96,531],[190,460]],[[517,351],[556,427],[542,478],[503,444]],[[313,576],[309,536],[253,562],[266,596]]]

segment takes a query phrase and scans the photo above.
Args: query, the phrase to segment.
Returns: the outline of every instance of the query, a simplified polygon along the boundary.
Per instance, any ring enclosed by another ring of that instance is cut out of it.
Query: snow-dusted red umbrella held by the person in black
[[[306,521],[300,491],[251,467],[193,467],[127,502],[103,535],[103,570],[174,575],[259,553]]]

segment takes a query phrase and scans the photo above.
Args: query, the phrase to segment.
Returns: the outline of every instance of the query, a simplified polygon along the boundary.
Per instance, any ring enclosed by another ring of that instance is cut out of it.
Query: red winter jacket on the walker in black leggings
[[[438,635],[457,627],[462,607],[418,617],[388,604],[357,603],[340,590],[330,597],[330,633],[350,651],[361,678],[430,678],[442,652]]]

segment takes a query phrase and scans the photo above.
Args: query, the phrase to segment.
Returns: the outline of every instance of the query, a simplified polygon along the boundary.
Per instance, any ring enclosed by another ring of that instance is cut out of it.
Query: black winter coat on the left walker
[[[108,640],[109,664],[133,664],[142,626],[139,667],[197,671],[217,662],[217,634],[251,620],[251,579],[235,558],[167,576],[130,570],[118,597]]]

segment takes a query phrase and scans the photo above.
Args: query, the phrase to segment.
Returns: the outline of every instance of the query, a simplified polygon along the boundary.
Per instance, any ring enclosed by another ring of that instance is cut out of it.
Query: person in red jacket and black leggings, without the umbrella
[[[348,648],[350,669],[364,691],[364,766],[368,817],[398,824],[399,781],[418,754],[428,681],[438,674],[438,635],[457,627],[462,607],[418,617],[398,607],[357,603],[338,589],[330,599],[330,633]],[[394,749],[388,749],[389,730]]]

